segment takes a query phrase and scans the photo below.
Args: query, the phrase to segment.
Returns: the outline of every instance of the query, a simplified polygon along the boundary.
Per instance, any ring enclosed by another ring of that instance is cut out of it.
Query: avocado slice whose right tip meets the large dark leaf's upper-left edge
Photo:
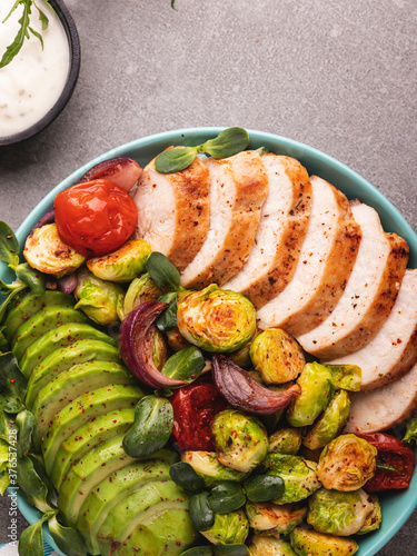
[[[57,453],[50,479],[58,490],[68,469],[89,450],[115,436],[125,434],[135,420],[135,409],[117,409],[88,421],[64,440]]]

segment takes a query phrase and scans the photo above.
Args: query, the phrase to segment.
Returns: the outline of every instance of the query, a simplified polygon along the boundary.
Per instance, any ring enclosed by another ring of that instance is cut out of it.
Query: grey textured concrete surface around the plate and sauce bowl
[[[67,4],[82,46],[76,92],[48,130],[0,148],[0,219],[13,229],[97,155],[195,126],[311,145],[367,178],[417,228],[415,0]],[[6,509],[0,500],[0,542]],[[379,556],[416,553],[417,515]]]

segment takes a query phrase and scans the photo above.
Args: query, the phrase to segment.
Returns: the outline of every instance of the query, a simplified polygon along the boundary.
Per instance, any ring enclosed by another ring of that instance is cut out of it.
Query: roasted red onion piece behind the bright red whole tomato
[[[142,172],[140,166],[131,158],[110,158],[90,168],[80,179],[80,183],[92,179],[107,179],[130,191]]]

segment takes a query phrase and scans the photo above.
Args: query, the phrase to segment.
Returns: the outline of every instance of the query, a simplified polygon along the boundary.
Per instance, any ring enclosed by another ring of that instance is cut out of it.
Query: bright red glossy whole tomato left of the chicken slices
[[[85,257],[115,251],[135,231],[138,210],[120,186],[105,179],[78,183],[57,195],[60,238]]]

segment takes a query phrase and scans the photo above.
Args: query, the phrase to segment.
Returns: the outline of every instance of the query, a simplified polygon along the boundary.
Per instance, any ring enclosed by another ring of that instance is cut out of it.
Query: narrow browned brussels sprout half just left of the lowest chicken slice
[[[302,444],[315,450],[324,448],[344,429],[350,411],[350,399],[346,390],[335,394],[325,413],[308,430]]]

